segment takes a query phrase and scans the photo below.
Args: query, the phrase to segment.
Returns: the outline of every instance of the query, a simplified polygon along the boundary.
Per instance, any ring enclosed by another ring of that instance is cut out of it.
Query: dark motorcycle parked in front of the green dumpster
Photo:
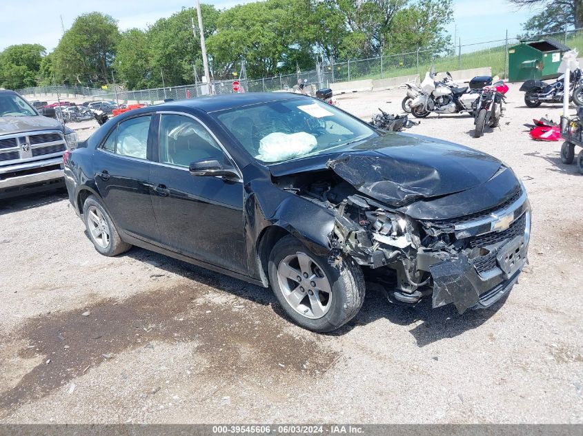
[[[528,107],[539,107],[542,103],[562,103],[564,83],[564,74],[550,84],[540,80],[525,81],[520,87],[520,91],[525,92],[524,104]],[[569,101],[583,105],[583,78],[579,68],[569,75],[569,94]]]

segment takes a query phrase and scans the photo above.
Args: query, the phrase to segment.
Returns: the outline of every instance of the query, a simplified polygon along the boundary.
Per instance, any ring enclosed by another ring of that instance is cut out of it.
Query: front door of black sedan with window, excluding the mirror
[[[188,165],[216,159],[234,166],[206,126],[186,114],[162,113],[152,203],[163,244],[191,258],[248,273],[242,180],[191,176]]]

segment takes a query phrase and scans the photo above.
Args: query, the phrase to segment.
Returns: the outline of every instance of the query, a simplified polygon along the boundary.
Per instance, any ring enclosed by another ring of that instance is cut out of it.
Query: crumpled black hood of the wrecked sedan
[[[327,163],[362,194],[395,207],[471,189],[501,165],[475,149],[406,134],[375,138]]]

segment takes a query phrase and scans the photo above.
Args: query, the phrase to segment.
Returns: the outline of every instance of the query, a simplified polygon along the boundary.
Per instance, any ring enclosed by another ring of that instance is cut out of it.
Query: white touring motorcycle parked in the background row
[[[423,93],[411,102],[411,114],[415,118],[425,118],[431,112],[436,114],[468,112],[473,115],[480,91],[471,90],[468,93],[467,86],[457,87],[449,72],[446,72],[444,80],[437,82],[433,70],[425,74],[421,90]]]

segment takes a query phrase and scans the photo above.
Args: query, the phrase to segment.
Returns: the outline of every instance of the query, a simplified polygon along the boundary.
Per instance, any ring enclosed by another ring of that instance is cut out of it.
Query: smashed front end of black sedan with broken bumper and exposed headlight
[[[524,187],[495,211],[433,221],[355,194],[337,207],[331,257],[342,252],[364,267],[391,269],[389,300],[416,303],[432,295],[433,307],[451,303],[463,313],[491,306],[516,282],[530,221]]]

